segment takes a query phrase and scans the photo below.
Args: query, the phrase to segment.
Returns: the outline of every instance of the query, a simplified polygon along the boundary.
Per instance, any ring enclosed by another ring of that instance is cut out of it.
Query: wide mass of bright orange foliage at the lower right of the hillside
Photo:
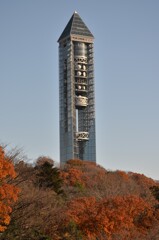
[[[124,231],[143,231],[155,221],[150,205],[136,196],[114,197],[97,201],[94,197],[77,198],[69,202],[69,221],[77,224],[86,239],[110,237]],[[111,239],[111,238],[110,238]]]

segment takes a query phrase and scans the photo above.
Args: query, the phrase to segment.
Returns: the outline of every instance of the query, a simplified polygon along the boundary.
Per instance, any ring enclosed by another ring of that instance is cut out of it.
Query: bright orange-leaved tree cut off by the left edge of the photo
[[[16,177],[12,162],[5,157],[0,147],[0,232],[3,232],[10,223],[12,204],[17,200],[19,189],[9,183]]]

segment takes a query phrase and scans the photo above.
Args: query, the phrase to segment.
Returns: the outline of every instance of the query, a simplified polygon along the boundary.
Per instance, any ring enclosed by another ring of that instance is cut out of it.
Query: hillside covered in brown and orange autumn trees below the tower
[[[70,160],[15,164],[21,190],[1,240],[158,240],[159,183]]]

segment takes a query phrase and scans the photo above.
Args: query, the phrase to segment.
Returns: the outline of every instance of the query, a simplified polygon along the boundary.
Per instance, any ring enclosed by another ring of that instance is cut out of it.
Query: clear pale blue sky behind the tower
[[[59,162],[57,40],[95,36],[97,163],[159,179],[159,1],[1,0],[0,144]]]

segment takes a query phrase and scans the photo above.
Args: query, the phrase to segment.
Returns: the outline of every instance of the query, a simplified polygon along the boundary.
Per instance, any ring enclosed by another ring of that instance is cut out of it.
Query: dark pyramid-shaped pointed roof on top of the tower
[[[70,35],[79,35],[94,38],[92,33],[76,11],[73,13],[72,17],[67,23],[65,29],[63,30],[61,36],[58,39],[58,42]]]

